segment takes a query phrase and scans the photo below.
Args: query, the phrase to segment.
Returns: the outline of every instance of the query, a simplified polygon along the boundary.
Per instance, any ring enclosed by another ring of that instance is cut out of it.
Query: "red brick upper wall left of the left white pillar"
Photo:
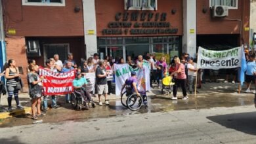
[[[22,0],[3,1],[5,29],[20,36],[83,36],[81,0],[66,0],[65,7],[22,6]],[[80,11],[75,13],[75,5]]]

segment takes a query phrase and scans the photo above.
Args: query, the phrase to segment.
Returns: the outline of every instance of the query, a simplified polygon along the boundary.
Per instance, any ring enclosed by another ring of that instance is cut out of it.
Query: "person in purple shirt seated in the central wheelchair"
[[[138,96],[140,96],[140,93],[137,89],[137,83],[138,83],[138,79],[137,79],[137,75],[135,71],[131,71],[131,77],[129,77],[126,81],[125,84],[123,84],[122,88],[121,88],[121,94],[123,92],[123,89],[125,88],[125,86],[129,86],[129,88],[132,89],[132,92],[135,92]]]

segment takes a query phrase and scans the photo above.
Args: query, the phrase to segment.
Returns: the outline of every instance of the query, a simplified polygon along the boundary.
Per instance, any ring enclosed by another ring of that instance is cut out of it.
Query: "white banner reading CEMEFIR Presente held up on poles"
[[[241,47],[218,51],[199,47],[198,69],[230,69],[241,67],[241,50]]]

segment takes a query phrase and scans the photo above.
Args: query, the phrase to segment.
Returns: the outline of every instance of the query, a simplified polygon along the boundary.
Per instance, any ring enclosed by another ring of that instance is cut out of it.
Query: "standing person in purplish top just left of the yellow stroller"
[[[160,80],[163,79],[163,74],[167,71],[167,63],[165,62],[165,57],[162,56],[161,60],[156,62],[156,81],[158,82],[158,86],[160,85]]]

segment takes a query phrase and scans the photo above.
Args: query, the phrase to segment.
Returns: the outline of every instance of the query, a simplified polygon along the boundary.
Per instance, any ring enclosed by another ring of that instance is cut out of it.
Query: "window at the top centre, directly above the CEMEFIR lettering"
[[[125,10],[157,10],[158,0],[125,0]]]

